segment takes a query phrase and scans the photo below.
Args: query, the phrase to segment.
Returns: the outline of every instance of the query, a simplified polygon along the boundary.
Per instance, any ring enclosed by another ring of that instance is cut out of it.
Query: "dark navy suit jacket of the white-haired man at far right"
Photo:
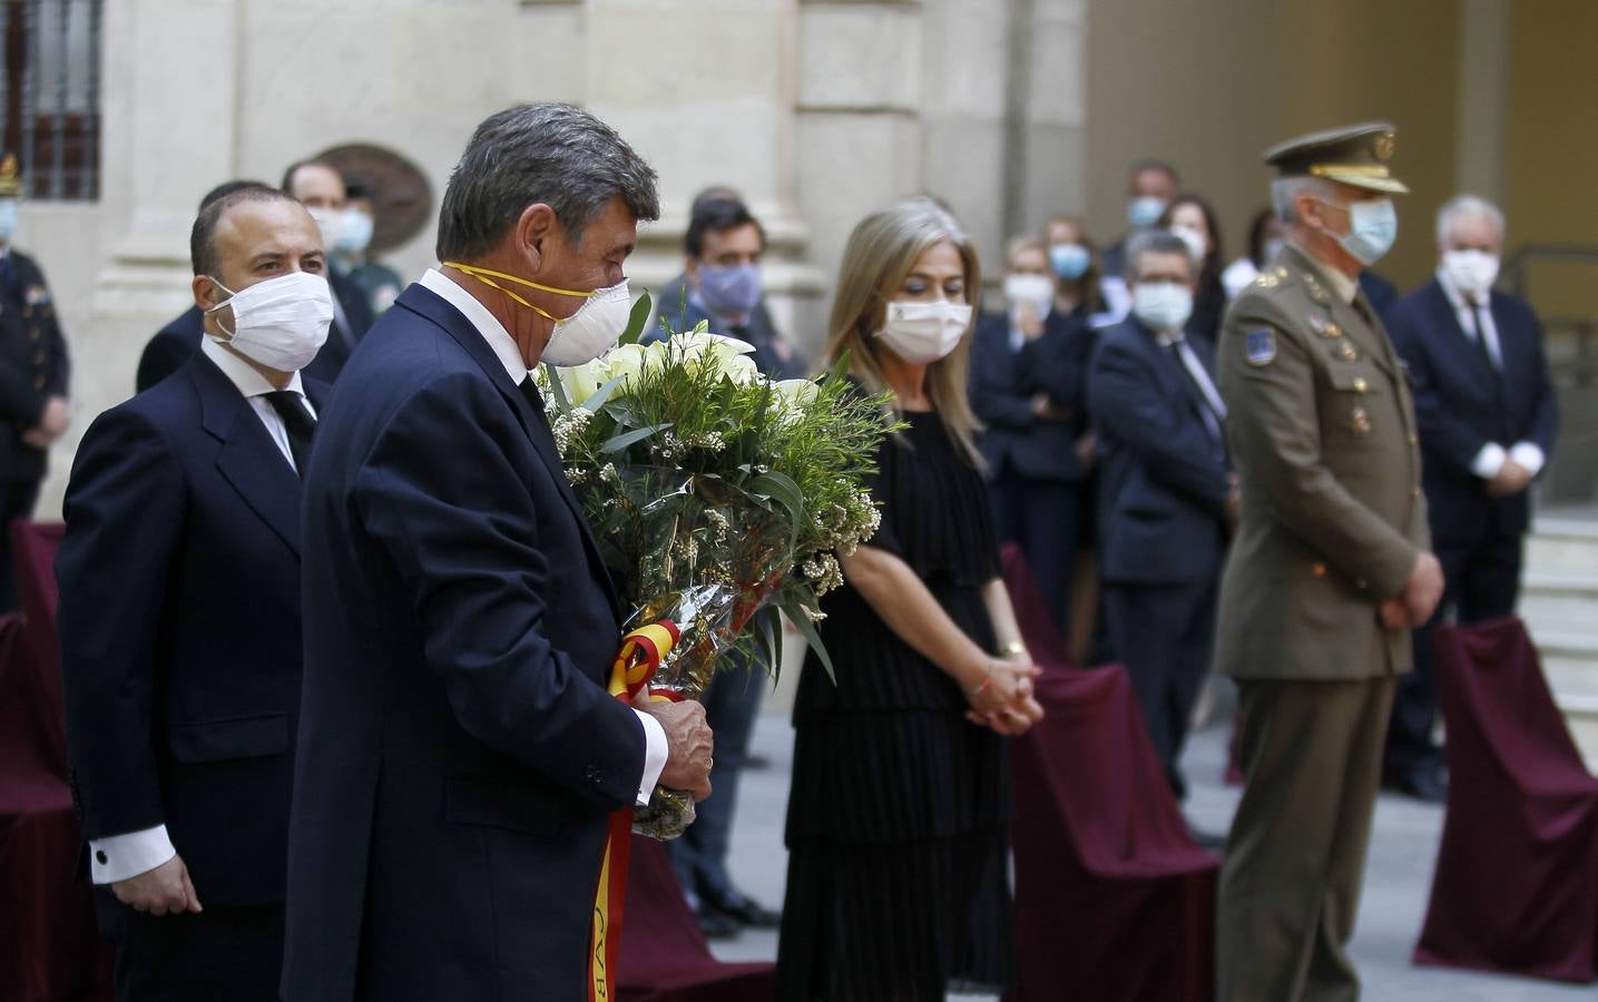
[[[1409,371],[1414,416],[1432,535],[1441,542],[1480,540],[1497,532],[1520,535],[1531,521],[1531,499],[1488,497],[1470,463],[1485,444],[1505,449],[1536,443],[1552,455],[1560,408],[1542,352],[1542,326],[1523,299],[1493,292],[1502,374],[1496,372],[1473,332],[1465,334],[1433,278],[1387,312],[1384,323]]]

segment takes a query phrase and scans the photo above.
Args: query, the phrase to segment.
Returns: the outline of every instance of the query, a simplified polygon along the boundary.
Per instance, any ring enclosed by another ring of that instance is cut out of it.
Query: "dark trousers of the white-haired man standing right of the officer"
[[[1414,631],[1414,671],[1398,679],[1393,714],[1387,726],[1389,777],[1440,764],[1432,743],[1437,722],[1437,654],[1432,631],[1449,614],[1461,623],[1480,623],[1515,612],[1520,594],[1523,537],[1493,534],[1478,540],[1433,543],[1443,564],[1443,601],[1425,626]]]

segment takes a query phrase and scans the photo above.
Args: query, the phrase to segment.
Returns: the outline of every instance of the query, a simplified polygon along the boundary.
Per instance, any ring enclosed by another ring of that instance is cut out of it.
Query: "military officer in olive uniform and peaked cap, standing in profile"
[[[1360,272],[1397,237],[1393,128],[1266,152],[1286,230],[1222,324],[1242,518],[1216,665],[1246,777],[1221,869],[1218,997],[1357,999],[1354,933],[1395,676],[1443,577],[1403,368]]]

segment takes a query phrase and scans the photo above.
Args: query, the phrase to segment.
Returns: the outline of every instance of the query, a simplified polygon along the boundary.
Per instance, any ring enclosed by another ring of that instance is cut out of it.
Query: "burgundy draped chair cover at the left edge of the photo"
[[[110,999],[110,946],[75,881],[78,826],[66,783],[56,586],[59,526],[13,526],[27,618],[0,620],[0,996]]]

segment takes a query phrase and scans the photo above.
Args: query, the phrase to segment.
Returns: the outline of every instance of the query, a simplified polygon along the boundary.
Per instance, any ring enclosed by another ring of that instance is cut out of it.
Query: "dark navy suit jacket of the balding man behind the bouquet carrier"
[[[318,409],[326,387],[305,380]],[[166,825],[200,901],[283,901],[300,481],[205,355],[83,435],[56,558],[86,839]]]

